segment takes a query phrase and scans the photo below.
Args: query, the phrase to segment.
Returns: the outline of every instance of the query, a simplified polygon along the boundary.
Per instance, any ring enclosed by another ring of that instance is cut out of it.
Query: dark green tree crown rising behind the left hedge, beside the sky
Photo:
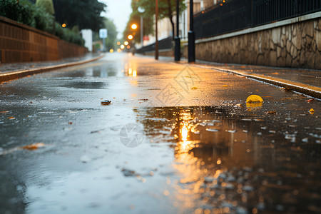
[[[97,0],[54,0],[56,21],[67,24],[70,28],[92,29],[98,31],[103,27],[103,17],[100,15],[106,4]]]

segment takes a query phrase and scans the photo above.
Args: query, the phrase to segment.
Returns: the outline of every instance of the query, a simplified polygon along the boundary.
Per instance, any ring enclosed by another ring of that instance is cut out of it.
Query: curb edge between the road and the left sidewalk
[[[89,63],[92,61],[96,61],[100,58],[103,58],[105,54],[101,54],[100,56],[96,56],[95,58],[89,58],[83,61],[76,61],[76,62],[71,62],[71,63],[62,63],[54,66],[45,66],[45,67],[39,67],[39,68],[31,68],[31,69],[26,69],[26,70],[21,70],[21,71],[12,71],[8,73],[2,73],[0,74],[0,83],[5,82],[5,81],[11,81],[16,78],[24,78],[29,75],[34,75],[37,73],[44,73],[47,71],[52,71],[55,69],[60,69],[60,68],[66,68],[66,67],[71,67],[71,66],[78,66],[83,63]]]

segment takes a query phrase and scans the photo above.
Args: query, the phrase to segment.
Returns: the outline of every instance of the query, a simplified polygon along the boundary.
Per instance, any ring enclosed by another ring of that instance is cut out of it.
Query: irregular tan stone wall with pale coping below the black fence
[[[218,63],[321,69],[321,14],[317,16],[199,39],[195,57]],[[185,57],[187,54],[185,46]]]

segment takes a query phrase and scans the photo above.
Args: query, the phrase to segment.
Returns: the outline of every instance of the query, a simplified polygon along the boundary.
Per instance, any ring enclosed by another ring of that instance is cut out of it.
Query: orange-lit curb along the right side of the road
[[[280,86],[280,87],[289,87],[292,91],[297,91],[299,93],[303,93],[307,96],[312,96],[314,98],[321,99],[321,88],[317,86],[309,86],[307,84],[303,83],[297,83],[294,81],[288,81],[282,78],[275,78],[272,76],[263,76],[259,74],[248,74],[248,73],[243,73],[240,71],[235,71],[231,69],[224,69],[224,68],[217,68],[214,66],[201,66],[201,65],[193,65],[196,67],[200,68],[210,68],[215,71],[223,71],[223,72],[228,72],[228,73],[235,73],[240,76],[245,76],[247,78],[252,78],[258,81],[263,81],[265,83],[270,83],[275,86]]]

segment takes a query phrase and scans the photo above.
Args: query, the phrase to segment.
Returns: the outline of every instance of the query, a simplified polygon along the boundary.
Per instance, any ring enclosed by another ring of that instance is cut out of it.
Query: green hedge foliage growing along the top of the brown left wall
[[[63,29],[60,24],[54,22],[53,16],[44,7],[31,4],[28,0],[20,0],[19,3],[16,0],[0,0],[0,16],[54,34],[74,44],[84,44],[78,31]]]

